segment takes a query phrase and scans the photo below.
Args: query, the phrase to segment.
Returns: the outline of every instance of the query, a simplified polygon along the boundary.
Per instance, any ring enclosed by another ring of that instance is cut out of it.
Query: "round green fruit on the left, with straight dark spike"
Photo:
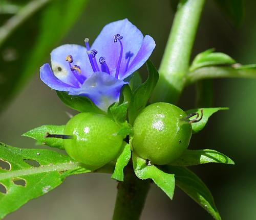
[[[87,167],[97,169],[114,160],[122,146],[118,125],[106,115],[80,113],[72,117],[64,130],[72,135],[64,140],[67,154]]]

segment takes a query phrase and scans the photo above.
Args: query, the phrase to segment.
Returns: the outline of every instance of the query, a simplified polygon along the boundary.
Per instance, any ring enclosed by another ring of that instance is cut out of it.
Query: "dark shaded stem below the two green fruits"
[[[125,169],[124,181],[118,183],[118,192],[113,220],[138,220],[140,218],[150,180],[140,180],[133,168]]]

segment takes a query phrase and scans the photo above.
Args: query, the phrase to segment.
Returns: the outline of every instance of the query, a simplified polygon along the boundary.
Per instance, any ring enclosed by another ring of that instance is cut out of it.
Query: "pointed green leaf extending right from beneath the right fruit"
[[[234,164],[234,161],[215,150],[186,150],[178,160],[170,163],[170,165],[193,166],[204,163]]]

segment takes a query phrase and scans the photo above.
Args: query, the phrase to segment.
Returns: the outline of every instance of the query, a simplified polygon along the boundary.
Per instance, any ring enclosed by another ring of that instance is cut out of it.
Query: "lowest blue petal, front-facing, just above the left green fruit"
[[[120,95],[121,87],[126,84],[105,72],[95,72],[86,80],[81,88],[70,90],[71,95],[84,95],[89,97],[95,105],[103,111],[117,102]]]

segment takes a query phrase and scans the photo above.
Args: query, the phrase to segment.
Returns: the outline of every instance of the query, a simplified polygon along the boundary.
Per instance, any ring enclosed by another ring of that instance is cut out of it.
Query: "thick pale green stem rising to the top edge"
[[[154,101],[178,101],[204,3],[205,0],[180,1],[160,64]]]

